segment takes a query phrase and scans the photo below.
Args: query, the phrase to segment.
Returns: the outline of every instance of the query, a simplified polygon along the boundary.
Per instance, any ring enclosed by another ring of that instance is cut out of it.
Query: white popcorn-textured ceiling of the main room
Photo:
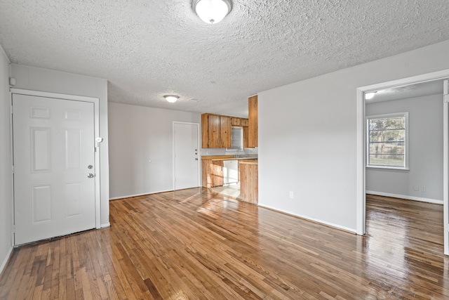
[[[448,0],[233,2],[208,25],[191,0],[0,0],[0,45],[108,79],[111,102],[246,116],[258,91],[449,39]]]

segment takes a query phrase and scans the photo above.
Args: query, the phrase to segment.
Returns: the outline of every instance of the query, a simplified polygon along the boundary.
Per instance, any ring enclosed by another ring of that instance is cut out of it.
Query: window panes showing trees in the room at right
[[[408,169],[408,112],[367,117],[368,167]]]

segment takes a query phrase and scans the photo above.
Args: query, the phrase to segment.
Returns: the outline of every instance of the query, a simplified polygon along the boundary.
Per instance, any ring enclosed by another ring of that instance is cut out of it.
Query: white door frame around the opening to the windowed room
[[[413,77],[385,81],[380,84],[361,86],[356,89],[356,116],[357,116],[357,163],[356,163],[356,233],[363,235],[366,233],[366,112],[364,93],[389,89],[409,84],[418,84],[425,81],[434,81],[449,78],[449,69],[427,74],[420,74]],[[444,87],[444,94],[448,93],[447,84]],[[446,97],[445,97],[446,98]],[[449,99],[448,99],[449,100]],[[449,114],[448,100],[443,100],[443,235],[444,254],[449,255]]]

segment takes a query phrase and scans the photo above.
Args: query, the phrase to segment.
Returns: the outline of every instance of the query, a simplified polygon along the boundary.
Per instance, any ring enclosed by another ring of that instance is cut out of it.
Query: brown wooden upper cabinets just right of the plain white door
[[[231,148],[231,117],[201,115],[201,148]]]

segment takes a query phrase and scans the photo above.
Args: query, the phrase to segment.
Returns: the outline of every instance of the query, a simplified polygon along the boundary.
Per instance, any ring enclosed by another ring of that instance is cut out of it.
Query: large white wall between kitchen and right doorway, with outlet
[[[448,53],[444,41],[258,93],[259,204],[356,232],[356,88],[447,70]]]

